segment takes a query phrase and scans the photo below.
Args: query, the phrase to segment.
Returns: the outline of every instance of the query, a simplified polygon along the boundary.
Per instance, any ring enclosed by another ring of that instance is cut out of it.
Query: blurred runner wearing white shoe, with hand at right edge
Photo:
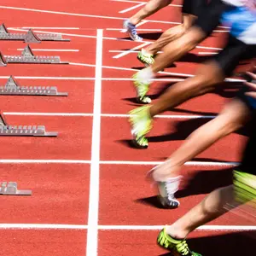
[[[250,75],[255,84],[246,83],[248,87],[242,87],[238,96],[226,104],[215,119],[195,130],[168,160],[160,166],[154,167],[150,172],[158,184],[159,199],[164,207],[176,208],[179,206],[175,193],[181,181],[180,172],[185,162],[194,159],[196,155],[201,154],[213,143],[231,132],[237,131],[248,122],[252,122],[250,125],[256,127],[256,100],[251,96],[255,92],[249,89],[256,86],[256,75],[253,73]],[[256,130],[255,127],[253,127],[253,131]],[[247,152],[247,155],[253,154],[253,152],[255,151]],[[253,163],[251,162],[251,164]],[[246,170],[249,167],[247,166]]]

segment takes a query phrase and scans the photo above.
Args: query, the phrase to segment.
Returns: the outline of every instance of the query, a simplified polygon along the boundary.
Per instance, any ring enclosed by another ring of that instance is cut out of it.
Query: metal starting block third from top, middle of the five
[[[68,96],[67,92],[58,92],[55,86],[20,86],[13,76],[10,76],[4,86],[0,86],[0,96]]]

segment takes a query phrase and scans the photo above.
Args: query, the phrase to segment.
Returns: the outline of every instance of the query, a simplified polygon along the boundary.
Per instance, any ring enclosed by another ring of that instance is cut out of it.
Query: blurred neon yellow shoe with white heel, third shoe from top
[[[141,79],[138,79],[138,73],[135,73],[132,76],[132,79],[134,79],[133,84],[137,92],[137,102],[143,103],[143,104],[149,104],[151,103],[151,99],[148,96],[146,96],[146,94],[149,90],[150,83],[145,83]]]

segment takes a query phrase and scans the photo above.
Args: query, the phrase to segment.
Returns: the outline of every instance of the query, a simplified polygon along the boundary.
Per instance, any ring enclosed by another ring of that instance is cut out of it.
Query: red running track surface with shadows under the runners
[[[142,0],[146,1],[146,0]],[[180,3],[174,1],[173,3]],[[230,183],[231,169],[219,166],[185,166],[183,168],[183,189],[180,191],[181,207],[169,211],[157,207],[154,189],[145,180],[145,174],[153,166],[129,165],[122,161],[161,161],[177,148],[198,126],[208,119],[157,119],[149,135],[148,150],[137,150],[129,146],[130,127],[127,119],[115,114],[125,114],[135,108],[134,90],[129,79],[134,71],[142,67],[135,54],[113,58],[119,53],[109,50],[131,49],[136,42],[117,40],[126,38],[119,31],[122,20],[137,11],[120,14],[122,9],[137,3],[113,2],[109,0],[87,1],[31,1],[5,0],[2,6],[34,10],[1,8],[2,21],[9,27],[79,27],[73,29],[35,29],[35,31],[62,32],[69,35],[71,43],[32,44],[32,49],[79,49],[79,52],[35,51],[35,55],[60,55],[61,61],[74,65],[9,65],[0,69],[0,83],[4,84],[9,75],[19,77],[21,85],[58,86],[59,91],[68,92],[67,97],[0,96],[0,109],[6,113],[10,125],[45,125],[47,131],[58,131],[57,138],[1,137],[1,181],[16,181],[20,189],[32,189],[30,197],[2,196],[1,224],[16,224],[14,229],[1,231],[2,255],[77,255],[86,254],[86,225],[90,191],[90,157],[92,142],[93,103],[96,65],[96,29],[103,29],[102,49],[102,118],[100,145],[100,201],[98,224],[98,255],[168,255],[155,245],[158,230],[152,225],[171,224],[213,189]],[[53,14],[36,11],[54,11]],[[66,13],[66,14],[63,14]],[[81,14],[73,15],[73,14]],[[87,16],[86,16],[87,15]],[[115,18],[89,17],[100,15]],[[148,20],[180,21],[180,8],[166,7]],[[148,22],[141,28],[166,30],[173,26],[160,22]],[[223,30],[223,28],[219,28]],[[14,31],[11,31],[14,32]],[[143,32],[143,38],[150,40],[155,32]],[[225,33],[215,32],[201,46],[221,47]],[[19,55],[26,46],[21,42],[0,42],[4,55]],[[201,51],[215,52],[214,49],[194,49],[176,67],[167,68],[167,73],[194,74],[204,61],[198,55]],[[77,65],[85,64],[84,66]],[[120,69],[121,68],[127,68]],[[243,67],[244,68],[244,67]],[[159,74],[162,79],[183,79],[183,76]],[[73,79],[71,79],[73,78]],[[83,79],[86,78],[86,79]],[[114,80],[115,79],[115,80]],[[118,79],[118,80],[116,80]],[[168,82],[154,82],[150,93],[156,97],[169,86]],[[235,95],[237,84],[225,84],[211,94],[185,102],[170,115],[216,115],[224,102]],[[15,115],[14,112],[18,115]],[[30,115],[27,115],[30,113]],[[46,113],[44,116],[38,113]],[[48,113],[48,114],[47,114]],[[49,115],[52,113],[52,115]],[[62,116],[61,116],[62,113]],[[63,115],[64,113],[64,115]],[[66,113],[66,115],[65,115]],[[74,115],[77,113],[77,116]],[[68,116],[68,114],[70,116]],[[197,160],[239,161],[241,143],[246,137],[236,133],[198,155]],[[14,162],[14,160],[16,162]],[[26,163],[24,160],[43,160]],[[55,163],[50,163],[53,160]],[[76,163],[61,163],[61,160],[77,160]],[[78,160],[85,160],[78,163]],[[86,162],[87,160],[87,162]],[[117,161],[111,164],[108,161]],[[71,228],[33,228],[22,230],[19,224],[81,225],[83,230]],[[210,223],[212,225],[253,225],[234,212]],[[108,227],[105,227],[108,225]],[[116,225],[126,226],[119,230]],[[131,230],[132,226],[141,230]],[[102,227],[103,226],[103,227]],[[110,226],[110,227],[109,227]],[[141,226],[141,227],[140,227]],[[152,230],[143,230],[148,226]],[[139,228],[140,227],[140,228]],[[109,230],[111,228],[111,230]],[[196,231],[191,234],[189,244],[203,255],[249,255],[254,241],[253,232]],[[235,247],[234,243],[240,246]],[[246,244],[246,249],[241,247]],[[247,251],[245,251],[247,250]],[[87,256],[96,256],[91,252]]]

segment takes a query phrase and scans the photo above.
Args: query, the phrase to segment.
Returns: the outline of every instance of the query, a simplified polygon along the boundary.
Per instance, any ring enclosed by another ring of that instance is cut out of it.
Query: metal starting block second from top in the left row
[[[69,64],[67,61],[61,61],[59,56],[35,56],[29,45],[23,49],[21,55],[3,55],[0,52],[0,66],[6,66],[8,63]]]

